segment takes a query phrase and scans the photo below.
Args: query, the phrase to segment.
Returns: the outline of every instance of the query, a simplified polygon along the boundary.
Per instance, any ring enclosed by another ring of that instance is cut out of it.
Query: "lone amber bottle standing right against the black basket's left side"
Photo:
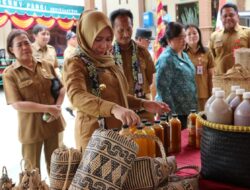
[[[195,141],[196,141],[196,110],[190,110],[190,114],[187,118],[187,128],[188,128],[188,145],[195,147]]]

